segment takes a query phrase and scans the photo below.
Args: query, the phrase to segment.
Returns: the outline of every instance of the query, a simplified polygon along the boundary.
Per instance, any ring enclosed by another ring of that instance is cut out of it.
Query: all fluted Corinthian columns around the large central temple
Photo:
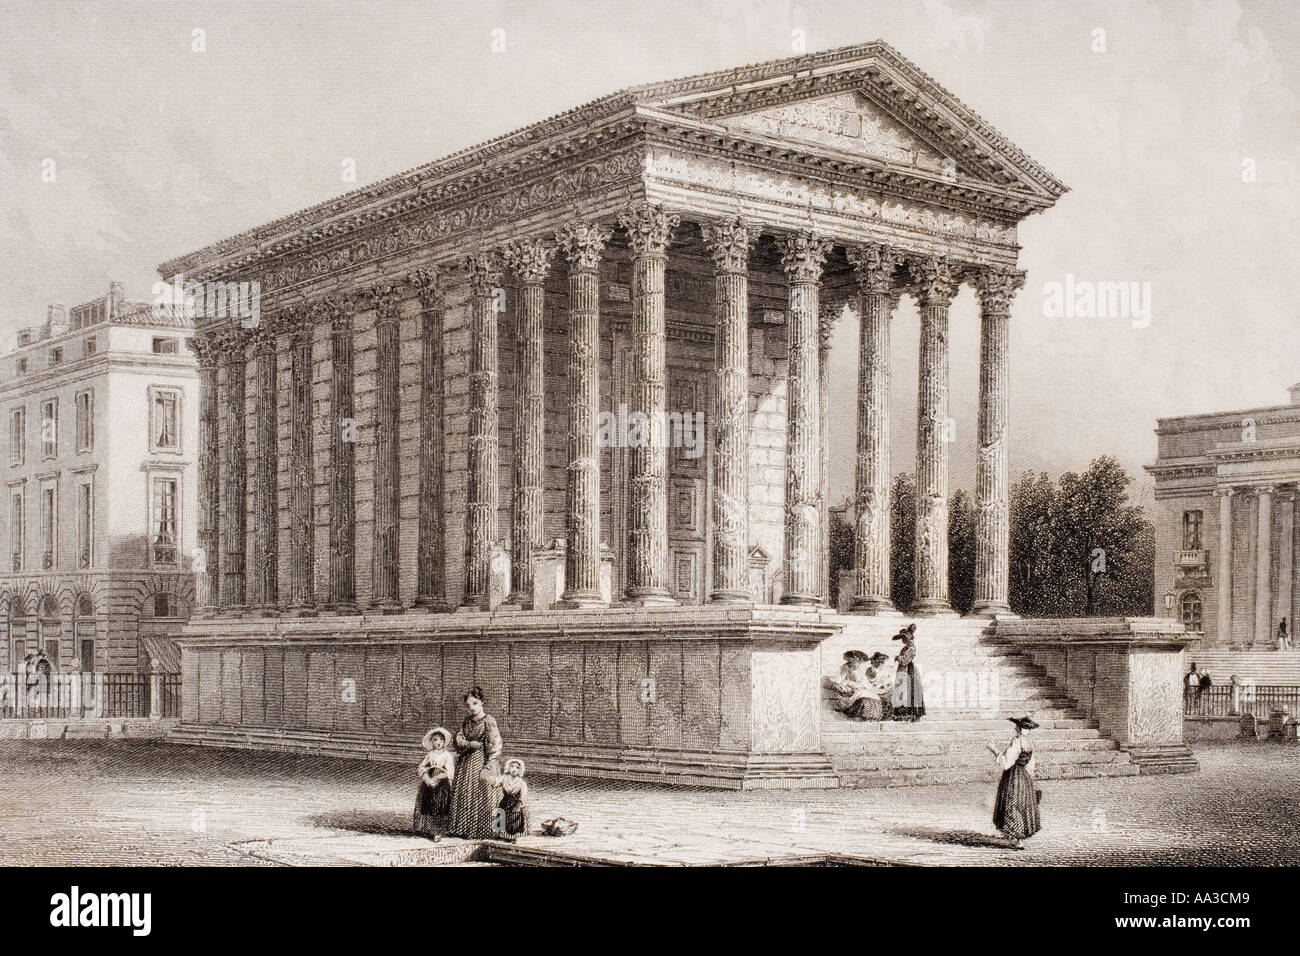
[[[636,203],[620,217],[632,250],[632,382],[636,411],[646,415],[644,442],[629,449],[627,540],[628,602],[671,604],[667,532],[667,325],[664,277],[676,215]],[[758,238],[738,217],[707,222],[702,234],[714,261],[719,392],[714,423],[712,580],[714,602],[748,602],[749,592],[749,258]],[[603,602],[599,533],[599,263],[611,235],[607,225],[569,222],[555,242],[514,242],[468,256],[469,420],[463,606],[481,607],[491,587],[498,540],[498,295],[508,269],[519,280],[517,427],[511,501],[512,601],[526,605],[533,585],[532,554],[543,545],[545,464],[545,278],[559,252],[568,264],[569,394],[567,468],[566,589],[562,602],[584,607]],[[785,481],[784,604],[826,601],[828,570],[824,479],[827,325],[822,320],[822,274],[832,243],[814,233],[779,239],[788,284],[788,423]],[[857,548],[854,609],[880,613],[889,600],[889,324],[900,291],[911,287],[920,303],[918,416],[916,610],[945,613],[948,600],[948,308],[966,267],[942,258],[907,260],[910,280],[894,284],[904,256],[883,245],[849,248],[861,315],[858,385]],[[1005,613],[1008,581],[1006,356],[1010,298],[1023,273],[975,273],[983,303],[980,346],[979,467],[976,477],[979,550],[976,611]],[[404,286],[420,300],[420,525],[417,607],[448,610],[443,596],[445,488],[442,476],[442,286],[436,271],[411,273]],[[367,290],[376,313],[373,605],[402,609],[398,594],[400,502],[398,458],[399,302],[403,287],[382,282]],[[280,333],[290,342],[290,546],[294,550],[286,610],[356,613],[354,297],[326,297],[261,328],[226,329],[196,345],[200,359],[199,542],[207,574],[200,604],[211,611],[276,613],[277,581],[277,358]],[[328,593],[317,594],[312,554],[313,454],[311,428],[312,329],[332,326],[330,525]],[[252,600],[244,579],[244,363],[252,343],[256,369],[256,515]],[[217,415],[226,416],[224,454],[217,458]],[[220,468],[217,462],[220,460]],[[222,509],[221,503],[226,507]],[[218,538],[220,527],[220,538]],[[220,542],[220,546],[218,546]],[[220,581],[214,588],[212,581]]]

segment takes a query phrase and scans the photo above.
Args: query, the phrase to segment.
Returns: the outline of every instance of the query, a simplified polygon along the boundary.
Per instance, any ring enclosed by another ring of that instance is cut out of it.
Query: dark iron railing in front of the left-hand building
[[[174,674],[0,674],[0,718],[179,715]]]

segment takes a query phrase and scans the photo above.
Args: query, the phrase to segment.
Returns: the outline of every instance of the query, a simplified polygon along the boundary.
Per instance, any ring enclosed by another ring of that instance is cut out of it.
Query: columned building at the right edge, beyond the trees
[[[1290,405],[1160,419],[1156,602],[1210,646],[1275,648],[1294,628],[1300,384]]]

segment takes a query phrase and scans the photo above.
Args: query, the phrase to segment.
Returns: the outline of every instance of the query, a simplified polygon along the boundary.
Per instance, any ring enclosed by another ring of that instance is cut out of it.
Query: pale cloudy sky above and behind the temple
[[[614,90],[884,39],[1071,190],[1020,226],[1013,476],[1113,454],[1145,483],[1157,418],[1282,405],[1300,381],[1292,0],[0,0],[0,22],[5,346],[51,303],[110,280],[148,299],[165,259]],[[1067,281],[1149,289],[1149,319],[1054,315]],[[896,471],[918,334],[905,298]],[[841,321],[833,447],[854,441],[855,337]],[[971,489],[970,289],[950,343],[953,486]],[[852,455],[833,460],[838,501]]]

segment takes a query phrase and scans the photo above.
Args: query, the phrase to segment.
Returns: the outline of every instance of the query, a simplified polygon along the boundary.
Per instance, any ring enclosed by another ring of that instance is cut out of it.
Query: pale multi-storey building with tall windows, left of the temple
[[[194,604],[192,321],[107,295],[22,329],[0,359],[4,665],[176,670]]]

